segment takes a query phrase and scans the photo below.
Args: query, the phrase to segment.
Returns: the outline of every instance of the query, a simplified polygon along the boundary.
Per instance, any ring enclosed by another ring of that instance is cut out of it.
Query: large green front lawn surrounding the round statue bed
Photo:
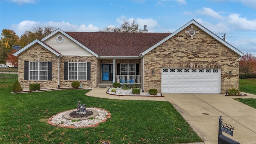
[[[36,144],[176,144],[201,142],[200,137],[170,102],[110,100],[86,96],[89,90],[55,90],[11,94],[11,84],[0,85],[0,143]],[[108,110],[111,118],[94,128],[61,128],[48,118],[76,108]]]

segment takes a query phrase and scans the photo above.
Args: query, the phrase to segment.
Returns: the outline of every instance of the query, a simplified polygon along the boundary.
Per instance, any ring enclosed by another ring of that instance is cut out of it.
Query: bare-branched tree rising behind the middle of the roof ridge
[[[120,27],[107,26],[98,32],[142,32],[142,29],[139,29],[139,24],[136,24],[135,20],[132,23],[124,20],[124,23]]]

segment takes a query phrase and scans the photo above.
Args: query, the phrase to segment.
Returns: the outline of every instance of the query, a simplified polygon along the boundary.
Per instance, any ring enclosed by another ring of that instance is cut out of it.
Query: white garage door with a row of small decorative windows
[[[220,69],[162,68],[162,93],[220,93]]]

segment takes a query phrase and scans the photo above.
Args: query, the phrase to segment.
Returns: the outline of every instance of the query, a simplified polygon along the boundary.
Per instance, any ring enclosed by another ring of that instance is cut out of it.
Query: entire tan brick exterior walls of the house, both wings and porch
[[[140,64],[141,86],[144,91],[156,88],[161,92],[162,68],[221,68],[221,93],[229,88],[238,88],[239,55],[212,38],[200,28],[194,26],[196,33],[193,39],[185,33],[188,26],[160,46],[154,48],[143,58],[116,59],[117,64]],[[24,80],[24,61],[52,62],[52,80]],[[29,88],[29,84],[38,83],[41,88],[58,87],[58,56],[41,46],[35,44],[19,56],[19,82],[22,88]],[[90,62],[91,80],[81,80],[83,88],[96,87],[102,80],[101,64],[113,64],[113,59],[98,59],[95,56],[63,56],[60,58],[60,87],[71,87],[77,80],[64,80],[64,62]],[[154,70],[154,75],[152,74]],[[232,71],[232,75],[229,71]],[[144,81],[143,81],[144,74]]]

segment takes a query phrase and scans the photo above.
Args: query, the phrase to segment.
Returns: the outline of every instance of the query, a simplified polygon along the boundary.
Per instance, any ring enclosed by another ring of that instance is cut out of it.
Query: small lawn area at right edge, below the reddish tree
[[[256,80],[255,79],[239,79],[239,91],[256,94]]]

